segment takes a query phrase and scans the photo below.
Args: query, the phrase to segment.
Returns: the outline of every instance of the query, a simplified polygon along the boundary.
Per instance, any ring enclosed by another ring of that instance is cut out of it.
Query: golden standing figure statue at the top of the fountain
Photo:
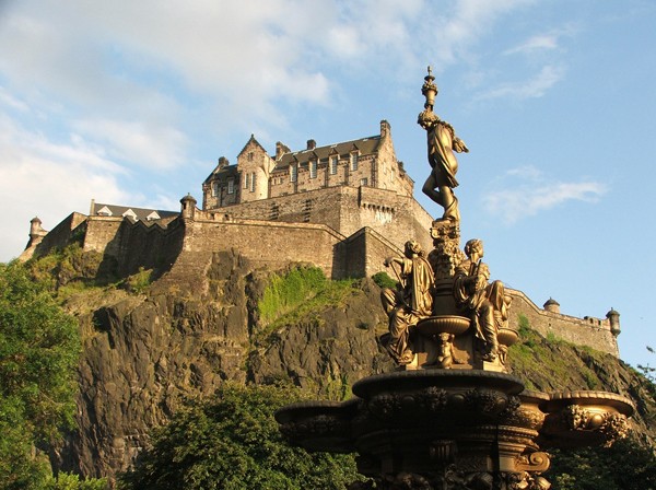
[[[458,161],[454,151],[468,153],[469,149],[456,137],[453,126],[440,119],[431,107],[419,114],[417,122],[426,130],[431,165],[431,175],[421,190],[444,208],[443,220],[459,222],[458,199],[454,194],[454,188],[458,187]]]

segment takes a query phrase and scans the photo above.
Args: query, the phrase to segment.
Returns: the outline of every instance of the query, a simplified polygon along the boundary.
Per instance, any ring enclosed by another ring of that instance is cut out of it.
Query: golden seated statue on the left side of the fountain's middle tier
[[[410,327],[431,316],[433,308],[434,276],[421,245],[406,242],[405,257],[385,260],[391,267],[399,284],[396,290],[385,288],[380,300],[389,316],[389,335],[385,347],[398,364],[409,364],[414,359],[410,345]]]

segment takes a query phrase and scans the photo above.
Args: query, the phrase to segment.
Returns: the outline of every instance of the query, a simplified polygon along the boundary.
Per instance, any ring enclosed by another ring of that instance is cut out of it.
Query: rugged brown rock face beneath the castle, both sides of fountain
[[[66,306],[84,342],[79,429],[54,452],[55,466],[93,477],[127,469],[183,399],[212,396],[224,381],[291,380],[341,399],[358,380],[394,370],[377,341],[387,317],[373,281],[268,331],[257,305],[270,275],[235,250],[187,253],[140,294],[104,289],[71,298]],[[654,436],[654,393],[612,355],[531,331],[512,349],[511,364],[528,387],[629,396],[636,427]]]

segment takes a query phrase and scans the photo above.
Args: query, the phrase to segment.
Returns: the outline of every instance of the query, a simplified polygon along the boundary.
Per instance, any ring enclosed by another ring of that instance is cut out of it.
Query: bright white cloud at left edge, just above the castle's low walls
[[[0,117],[0,195],[9,210],[0,224],[0,261],[21,254],[35,214],[49,230],[72,211],[87,212],[92,197],[125,202],[117,183],[122,173],[79,137],[52,142]]]

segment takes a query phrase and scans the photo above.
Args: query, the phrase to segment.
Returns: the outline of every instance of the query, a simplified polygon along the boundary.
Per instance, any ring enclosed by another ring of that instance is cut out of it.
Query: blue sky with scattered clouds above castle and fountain
[[[435,112],[470,152],[462,241],[542,305],[620,312],[621,358],[656,364],[656,2],[0,0],[0,261],[37,215],[91,199],[179,210],[251,133],[274,154],[374,136],[427,176]]]

